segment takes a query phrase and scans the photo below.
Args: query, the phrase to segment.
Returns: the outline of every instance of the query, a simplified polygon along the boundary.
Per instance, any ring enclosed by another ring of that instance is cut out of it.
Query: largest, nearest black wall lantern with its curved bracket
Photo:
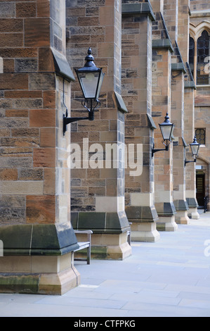
[[[85,58],[85,65],[83,68],[75,69],[79,80],[79,85],[84,96],[82,106],[88,111],[88,117],[85,118],[68,118],[67,113],[63,115],[63,135],[67,124],[76,122],[77,120],[94,120],[94,111],[100,105],[98,97],[103,83],[104,73],[102,68],[97,68],[93,56],[91,55],[91,48],[88,49],[88,55]]]

